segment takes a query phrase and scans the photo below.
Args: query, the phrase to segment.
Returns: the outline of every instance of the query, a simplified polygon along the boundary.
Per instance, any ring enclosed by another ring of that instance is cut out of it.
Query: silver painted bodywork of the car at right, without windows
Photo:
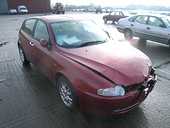
[[[141,15],[137,15],[141,16]],[[156,17],[160,19],[162,22],[163,20],[161,19],[161,16],[152,16],[152,15],[143,15],[143,16],[148,16],[148,20],[150,17]],[[146,40],[151,40],[151,41],[156,41],[160,42],[163,44],[170,44],[169,39],[170,39],[170,27],[159,27],[159,26],[153,26],[149,25],[148,21],[146,24],[138,23],[136,21],[129,21],[131,17],[129,18],[123,18],[119,20],[117,24],[117,29],[120,32],[124,32],[126,29],[130,29],[133,32],[134,36],[144,38]]]

